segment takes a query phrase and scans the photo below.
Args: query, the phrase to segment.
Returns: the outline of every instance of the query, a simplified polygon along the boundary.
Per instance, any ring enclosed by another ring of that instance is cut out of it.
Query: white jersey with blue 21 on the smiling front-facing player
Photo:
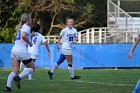
[[[74,38],[77,36],[77,30],[75,28],[69,29],[68,27],[66,27],[62,29],[60,36],[64,38],[62,48],[72,49],[72,43],[74,41]]]

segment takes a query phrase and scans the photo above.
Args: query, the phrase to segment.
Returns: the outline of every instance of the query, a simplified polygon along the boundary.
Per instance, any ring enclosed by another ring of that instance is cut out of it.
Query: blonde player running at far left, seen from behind
[[[12,58],[12,72],[9,74],[7,79],[7,85],[4,91],[11,91],[12,81],[14,79],[16,86],[20,89],[20,80],[26,75],[33,73],[35,70],[35,65],[30,54],[28,53],[27,46],[32,46],[30,42],[30,25],[32,23],[32,18],[29,14],[23,13],[21,15],[21,25],[18,28],[15,44],[11,50]],[[27,67],[26,70],[23,70],[19,76],[17,76],[21,61]]]

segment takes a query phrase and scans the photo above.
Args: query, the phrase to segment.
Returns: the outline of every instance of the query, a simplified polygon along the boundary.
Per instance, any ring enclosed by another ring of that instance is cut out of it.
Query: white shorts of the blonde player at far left
[[[11,57],[16,58],[19,61],[24,61],[24,60],[30,59],[30,54],[17,52],[17,51],[11,51]]]

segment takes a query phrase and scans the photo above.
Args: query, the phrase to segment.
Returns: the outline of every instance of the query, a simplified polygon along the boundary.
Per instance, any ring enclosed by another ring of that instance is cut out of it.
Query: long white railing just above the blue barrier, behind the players
[[[77,43],[132,43],[139,31],[140,29],[138,28],[135,31],[131,28],[120,28],[117,30],[109,27],[89,28],[78,32]],[[56,43],[58,37],[45,36],[48,43]]]

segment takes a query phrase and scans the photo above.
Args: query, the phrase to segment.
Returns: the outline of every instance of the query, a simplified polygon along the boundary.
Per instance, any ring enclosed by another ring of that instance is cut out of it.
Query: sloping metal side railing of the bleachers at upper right
[[[107,27],[135,28],[135,20],[111,0],[107,1]]]

